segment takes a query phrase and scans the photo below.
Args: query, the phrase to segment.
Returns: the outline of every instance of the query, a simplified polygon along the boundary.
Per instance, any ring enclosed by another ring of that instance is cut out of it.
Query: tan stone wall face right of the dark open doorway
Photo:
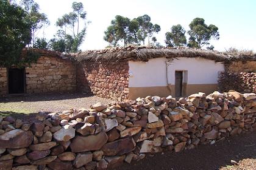
[[[76,65],[54,56],[41,56],[26,67],[26,92],[72,92],[76,90]]]

